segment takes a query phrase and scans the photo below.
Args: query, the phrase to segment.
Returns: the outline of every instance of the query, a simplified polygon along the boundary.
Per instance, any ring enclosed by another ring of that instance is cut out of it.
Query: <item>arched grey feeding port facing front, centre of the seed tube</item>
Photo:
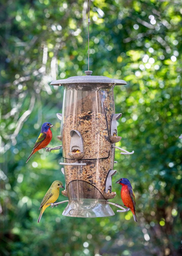
[[[83,153],[83,141],[82,141],[82,136],[77,130],[71,130],[70,131],[70,136],[71,136],[71,142],[70,142],[70,152],[68,155],[72,159],[82,159],[84,156]]]

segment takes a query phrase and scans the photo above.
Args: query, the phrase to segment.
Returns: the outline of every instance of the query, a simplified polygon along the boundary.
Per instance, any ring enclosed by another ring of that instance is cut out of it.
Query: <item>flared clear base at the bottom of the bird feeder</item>
[[[114,211],[107,204],[107,200],[80,199],[79,201],[69,201],[63,215],[77,218],[97,218],[113,216]]]

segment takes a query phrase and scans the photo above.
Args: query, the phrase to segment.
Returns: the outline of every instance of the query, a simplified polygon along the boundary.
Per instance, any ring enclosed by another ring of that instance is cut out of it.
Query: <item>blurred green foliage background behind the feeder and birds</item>
[[[88,69],[86,1],[2,0],[0,10],[0,254],[181,255],[181,0],[91,1],[90,69],[127,81],[114,89],[123,113],[117,146],[135,150],[116,151],[111,202],[121,203],[114,182],[127,177],[138,224],[130,211],[65,218],[66,205],[47,208],[37,224],[45,192],[64,180],[61,152],[40,150],[25,162],[43,122],[55,125],[51,146],[59,145],[63,88],[50,82]]]

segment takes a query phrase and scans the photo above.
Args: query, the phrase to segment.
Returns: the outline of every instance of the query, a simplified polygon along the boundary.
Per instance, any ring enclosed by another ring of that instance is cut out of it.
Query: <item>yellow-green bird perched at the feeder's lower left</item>
[[[47,203],[54,203],[58,199],[58,196],[60,194],[60,188],[64,188],[63,183],[61,183],[60,180],[55,180],[52,183],[49,190],[47,191],[47,193],[45,194],[39,208],[39,210],[41,209],[41,211],[38,217],[38,221],[37,221],[38,223],[40,222],[41,216],[43,215],[46,208],[50,206],[50,205],[47,205]]]

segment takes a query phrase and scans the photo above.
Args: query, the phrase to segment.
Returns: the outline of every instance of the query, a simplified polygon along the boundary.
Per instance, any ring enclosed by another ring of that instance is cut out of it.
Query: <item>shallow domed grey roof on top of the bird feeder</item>
[[[56,81],[52,81],[52,86],[59,86],[63,84],[114,84],[114,85],[122,85],[127,84],[124,80],[120,79],[112,79],[107,76],[71,76],[71,78],[60,79]]]

